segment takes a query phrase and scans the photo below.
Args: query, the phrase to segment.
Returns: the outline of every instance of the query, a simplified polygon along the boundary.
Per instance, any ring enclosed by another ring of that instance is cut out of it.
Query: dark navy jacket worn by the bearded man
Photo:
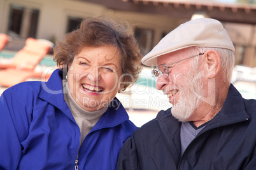
[[[170,109],[160,111],[122,147],[117,169],[256,169],[256,100],[232,86],[224,106],[181,155],[180,126]]]

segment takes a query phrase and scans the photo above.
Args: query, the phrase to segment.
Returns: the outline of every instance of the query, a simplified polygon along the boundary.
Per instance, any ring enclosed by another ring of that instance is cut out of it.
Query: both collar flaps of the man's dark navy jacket
[[[244,99],[231,84],[222,109],[200,133],[227,124],[246,121],[246,119],[249,119],[249,116],[245,111]],[[157,122],[159,122],[161,133],[164,138],[166,138],[168,147],[173,153],[174,160],[176,164],[178,164],[178,160],[180,159],[180,147],[177,146],[180,146],[181,123],[171,115],[171,108],[166,111],[161,110],[159,114],[157,114]]]

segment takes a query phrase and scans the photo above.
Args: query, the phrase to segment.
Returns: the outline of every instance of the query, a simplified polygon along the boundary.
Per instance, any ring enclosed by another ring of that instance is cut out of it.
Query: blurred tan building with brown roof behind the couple
[[[193,17],[220,20],[236,47],[236,65],[256,66],[256,4],[252,0],[0,0],[0,33],[18,50],[27,37],[55,42],[88,16],[108,15],[132,23],[143,53]]]

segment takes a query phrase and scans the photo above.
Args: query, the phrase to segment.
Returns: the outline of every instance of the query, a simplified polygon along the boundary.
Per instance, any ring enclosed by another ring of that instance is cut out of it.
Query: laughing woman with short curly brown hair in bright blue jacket
[[[141,53],[124,23],[84,20],[54,48],[48,82],[0,98],[0,169],[115,169],[136,126],[115,98],[138,79]]]

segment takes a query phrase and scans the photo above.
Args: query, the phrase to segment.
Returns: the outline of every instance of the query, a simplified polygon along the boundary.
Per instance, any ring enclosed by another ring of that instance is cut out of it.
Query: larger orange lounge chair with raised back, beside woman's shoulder
[[[25,47],[13,57],[12,63],[10,65],[2,65],[2,69],[4,69],[0,70],[0,86],[9,88],[28,78],[47,81],[51,74],[34,72],[34,69],[51,48],[51,43],[45,44],[45,42],[28,38]]]

